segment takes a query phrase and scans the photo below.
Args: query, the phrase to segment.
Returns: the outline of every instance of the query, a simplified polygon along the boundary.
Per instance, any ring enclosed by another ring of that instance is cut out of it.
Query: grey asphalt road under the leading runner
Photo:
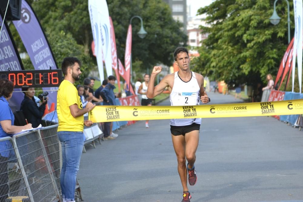
[[[243,102],[208,94],[211,104]],[[87,147],[78,172],[85,201],[182,200],[169,120],[149,125],[138,121]],[[202,119],[191,202],[303,202],[302,146],[303,131],[272,117]]]

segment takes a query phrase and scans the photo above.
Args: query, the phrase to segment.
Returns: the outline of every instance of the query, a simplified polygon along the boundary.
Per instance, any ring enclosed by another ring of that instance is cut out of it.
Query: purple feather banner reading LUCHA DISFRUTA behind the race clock
[[[21,5],[21,19],[12,21],[22,39],[26,51],[36,70],[58,69],[52,50],[48,44],[42,27],[32,9],[25,1]],[[57,105],[57,87],[43,88],[48,91],[48,104]]]

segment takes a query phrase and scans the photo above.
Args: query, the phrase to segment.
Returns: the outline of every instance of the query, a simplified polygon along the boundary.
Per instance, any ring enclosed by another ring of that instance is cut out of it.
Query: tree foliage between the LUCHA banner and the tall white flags
[[[42,26],[53,31],[71,34],[78,44],[89,53],[92,29],[88,14],[88,1],[83,0],[40,0],[32,3]]]

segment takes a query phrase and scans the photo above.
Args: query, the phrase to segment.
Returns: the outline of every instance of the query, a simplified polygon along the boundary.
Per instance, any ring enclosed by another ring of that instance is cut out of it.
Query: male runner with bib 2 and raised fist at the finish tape
[[[178,47],[174,52],[175,63],[179,71],[166,75],[160,83],[154,87],[156,76],[161,72],[161,66],[155,66],[151,73],[147,89],[147,97],[154,98],[168,87],[172,106],[198,105],[200,100],[208,103],[204,91],[204,78],[202,75],[192,72],[189,69],[188,50]],[[178,172],[183,186],[183,200],[189,201],[191,195],[187,187],[188,183],[193,186],[197,181],[195,171],[196,150],[199,143],[199,129],[201,118],[171,119],[171,138],[177,155]],[[186,159],[185,159],[186,158]],[[186,160],[188,161],[186,166]]]

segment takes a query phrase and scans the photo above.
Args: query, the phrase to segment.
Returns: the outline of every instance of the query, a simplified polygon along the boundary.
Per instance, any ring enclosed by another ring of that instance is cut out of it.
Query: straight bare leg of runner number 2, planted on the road
[[[185,160],[185,138],[183,135],[171,134],[172,144],[175,149],[178,161],[178,173],[182,183],[183,191],[188,191],[187,187],[187,169]]]

